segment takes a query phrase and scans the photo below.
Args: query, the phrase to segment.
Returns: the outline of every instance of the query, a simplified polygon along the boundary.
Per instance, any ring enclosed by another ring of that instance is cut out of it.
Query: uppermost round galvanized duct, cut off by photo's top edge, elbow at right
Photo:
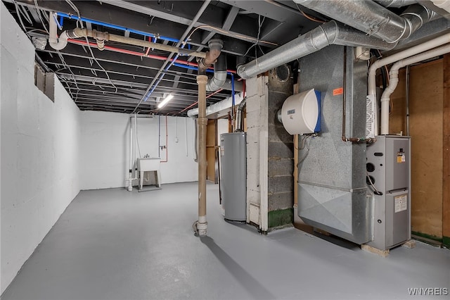
[[[433,11],[419,4],[413,4],[404,13],[397,15],[374,1],[294,0],[294,2],[388,43],[397,43],[400,39],[408,38],[420,26],[435,17]]]

